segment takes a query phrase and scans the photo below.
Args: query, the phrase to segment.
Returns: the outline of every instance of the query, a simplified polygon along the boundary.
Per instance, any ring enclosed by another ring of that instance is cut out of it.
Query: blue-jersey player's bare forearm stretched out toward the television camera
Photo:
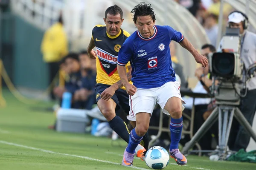
[[[179,42],[179,44],[194,56],[197,63],[200,63],[203,67],[208,65],[208,59],[201,55],[185,37],[181,42]]]

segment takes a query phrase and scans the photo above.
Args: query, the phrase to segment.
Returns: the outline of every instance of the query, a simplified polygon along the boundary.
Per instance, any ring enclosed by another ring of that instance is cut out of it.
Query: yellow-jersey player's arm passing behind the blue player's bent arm
[[[131,66],[128,66],[128,72],[126,74],[126,77],[128,79],[128,82],[131,81]],[[126,68],[125,68],[125,72],[126,72]],[[119,88],[121,88],[123,86],[122,81],[119,80],[118,82],[114,83],[113,85],[111,85],[109,88],[106,88],[105,91],[102,92],[102,94],[100,95],[100,97],[106,101],[108,101],[114,94],[115,91]]]

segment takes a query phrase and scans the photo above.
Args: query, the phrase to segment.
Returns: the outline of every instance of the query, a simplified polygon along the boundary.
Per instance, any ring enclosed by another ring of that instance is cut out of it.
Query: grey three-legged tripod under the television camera
[[[233,93],[234,92],[234,93]],[[240,97],[236,95],[233,86],[226,84],[220,90],[219,94],[215,96],[216,104],[218,105],[204,122],[204,124],[195,133],[192,139],[185,144],[183,147],[183,154],[188,154],[189,149],[195,145],[195,143],[201,139],[201,137],[209,130],[210,127],[218,119],[218,148],[215,150],[221,155],[221,159],[225,159],[228,147],[227,142],[230,135],[230,129],[233,122],[233,117],[237,119],[240,125],[242,125],[245,130],[250,134],[253,140],[256,142],[256,134],[252,130],[247,119],[239,110]]]

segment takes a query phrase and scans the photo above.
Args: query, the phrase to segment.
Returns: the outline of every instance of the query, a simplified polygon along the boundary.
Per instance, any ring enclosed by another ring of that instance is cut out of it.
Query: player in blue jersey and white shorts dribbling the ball
[[[180,153],[178,143],[182,131],[182,98],[180,84],[175,81],[169,44],[172,40],[186,48],[203,67],[206,57],[198,53],[183,35],[170,26],[155,26],[155,14],[151,4],[140,3],[133,8],[134,24],[137,27],[128,37],[118,53],[117,70],[129,96],[130,113],[128,119],[136,120],[131,130],[128,147],[125,149],[122,165],[132,166],[134,150],[147,132],[154,106],[158,103],[163,113],[171,115],[170,156],[177,164],[185,165],[187,160]],[[131,62],[132,82],[126,76],[125,65]]]

